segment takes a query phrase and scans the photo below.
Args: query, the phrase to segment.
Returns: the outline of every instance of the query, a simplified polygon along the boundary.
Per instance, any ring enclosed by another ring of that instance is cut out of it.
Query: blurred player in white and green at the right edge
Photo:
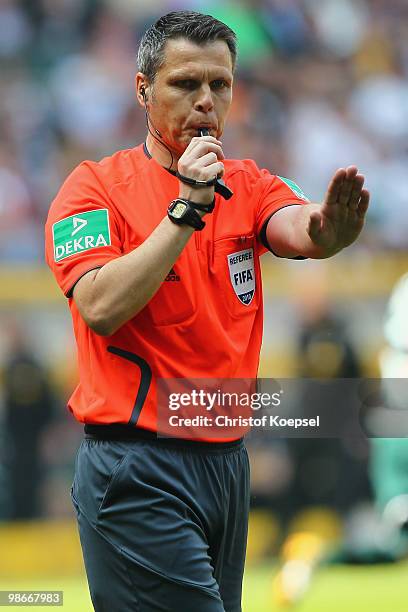
[[[373,503],[356,506],[350,513],[338,553],[341,561],[384,563],[408,555],[408,440],[402,437],[407,432],[407,306],[405,275],[387,305],[386,346],[380,354],[382,389],[376,393],[376,385],[372,387],[367,404],[372,411],[365,416],[372,436],[369,466]]]

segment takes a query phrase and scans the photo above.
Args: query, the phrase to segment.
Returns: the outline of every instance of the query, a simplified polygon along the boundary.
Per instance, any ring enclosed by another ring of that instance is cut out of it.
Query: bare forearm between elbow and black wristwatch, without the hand
[[[139,247],[105,264],[80,291],[74,289],[86,323],[108,336],[140,312],[193,233],[188,225],[177,226],[165,217]]]

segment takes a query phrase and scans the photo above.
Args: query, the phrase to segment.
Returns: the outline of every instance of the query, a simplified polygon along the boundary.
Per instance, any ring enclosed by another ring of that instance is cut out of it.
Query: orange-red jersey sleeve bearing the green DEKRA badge
[[[122,255],[119,223],[91,162],[67,178],[45,225],[45,257],[67,297],[78,280]]]

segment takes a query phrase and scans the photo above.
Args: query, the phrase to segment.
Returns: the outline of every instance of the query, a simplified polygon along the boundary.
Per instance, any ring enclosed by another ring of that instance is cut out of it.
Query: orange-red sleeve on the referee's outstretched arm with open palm
[[[272,175],[268,170],[261,170],[261,175],[262,189],[255,221],[260,254],[271,250],[266,240],[266,226],[272,215],[286,206],[309,203],[307,196],[294,181]]]

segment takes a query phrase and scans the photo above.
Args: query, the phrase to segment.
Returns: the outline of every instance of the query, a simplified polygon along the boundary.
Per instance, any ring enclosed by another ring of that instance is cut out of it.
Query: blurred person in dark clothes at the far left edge
[[[41,516],[41,435],[52,417],[53,397],[42,365],[13,328],[9,358],[3,366],[6,440],[6,501],[10,520]]]

